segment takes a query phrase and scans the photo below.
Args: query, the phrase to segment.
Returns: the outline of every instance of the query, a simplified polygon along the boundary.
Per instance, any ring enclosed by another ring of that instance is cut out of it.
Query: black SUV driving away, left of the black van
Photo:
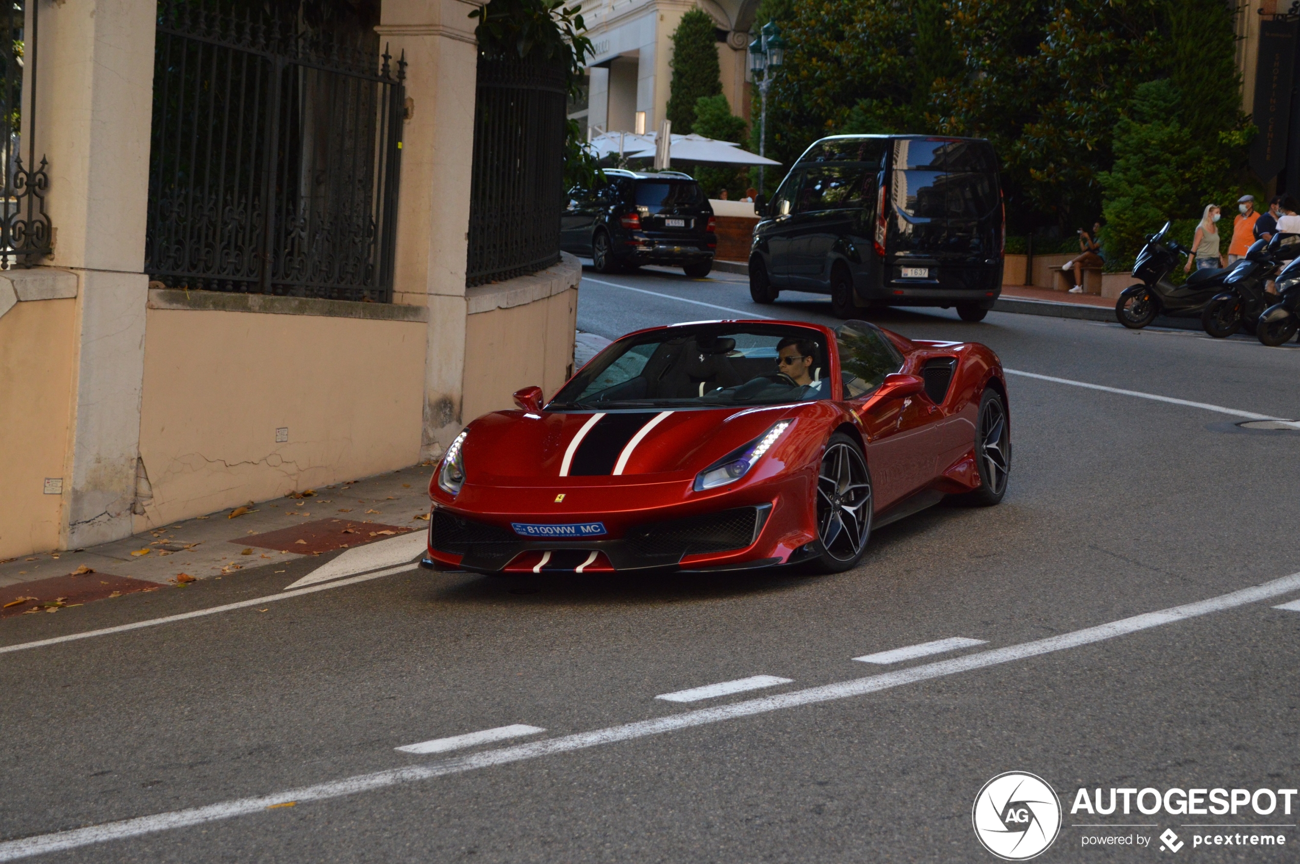
[[[592,256],[601,273],[666,264],[689,277],[708,275],[718,236],[699,183],[681,172],[606,169],[604,178],[598,188],[569,190],[560,248]]]

